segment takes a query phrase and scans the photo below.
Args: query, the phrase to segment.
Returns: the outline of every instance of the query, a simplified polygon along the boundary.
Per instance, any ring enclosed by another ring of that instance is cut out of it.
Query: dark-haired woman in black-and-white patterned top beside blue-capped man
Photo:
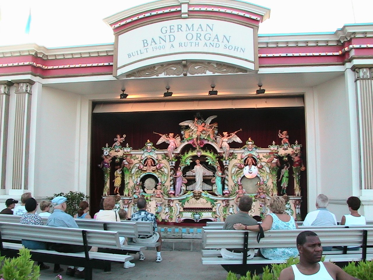
[[[38,214],[35,214],[36,208],[38,203],[34,198],[29,198],[25,202],[25,209],[26,213],[22,215],[21,220],[19,221],[21,224],[28,224],[28,225],[44,225],[43,220]],[[22,239],[22,245],[28,249],[47,249],[47,244],[42,241],[36,240],[24,240]],[[40,270],[48,269],[48,265],[45,265],[43,262],[38,262],[40,266]],[[63,268],[60,267],[59,264],[54,264],[54,273],[59,273],[63,271]]]

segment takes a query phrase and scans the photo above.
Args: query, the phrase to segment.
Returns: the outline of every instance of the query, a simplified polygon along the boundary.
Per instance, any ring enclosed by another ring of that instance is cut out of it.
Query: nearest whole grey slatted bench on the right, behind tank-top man
[[[295,247],[296,238],[304,229],[298,230],[269,230],[265,231],[265,237],[258,244],[256,241],[256,232],[243,230],[216,230],[204,227],[203,229],[203,249],[214,249],[213,253],[204,253],[202,264],[222,265],[227,271],[244,274],[249,270],[260,270],[263,265],[273,263],[283,263],[284,260],[270,260],[255,256],[253,259],[247,259],[246,253],[242,259],[223,259],[217,256],[217,249],[230,248],[241,249],[247,252],[248,249],[256,248],[281,248]],[[367,253],[366,249],[373,247],[373,231],[361,227],[354,228],[312,228],[320,238],[323,246],[362,246],[362,251],[348,251],[343,253],[328,253],[325,256],[326,261],[348,262],[360,261],[363,259],[373,259],[372,253]]]

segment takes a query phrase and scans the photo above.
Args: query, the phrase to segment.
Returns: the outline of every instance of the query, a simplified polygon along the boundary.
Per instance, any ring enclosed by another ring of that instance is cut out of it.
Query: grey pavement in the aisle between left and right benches
[[[191,251],[162,251],[162,262],[156,262],[156,251],[143,251],[144,261],[139,261],[138,254],[134,255],[136,265],[123,268],[123,263],[113,262],[112,271],[93,270],[93,280],[226,280],[227,272],[220,265],[202,265],[201,252]],[[53,264],[47,270],[40,271],[40,280],[54,280]],[[61,265],[63,280],[74,280],[76,277],[67,276],[66,265]]]

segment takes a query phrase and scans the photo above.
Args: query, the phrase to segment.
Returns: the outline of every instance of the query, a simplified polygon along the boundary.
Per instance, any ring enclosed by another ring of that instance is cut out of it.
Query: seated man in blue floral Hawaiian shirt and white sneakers
[[[153,235],[152,236],[139,236],[139,239],[141,239],[141,242],[144,243],[153,243],[153,242],[160,242],[160,245],[157,246],[157,257],[156,262],[163,261],[161,256],[161,247],[162,247],[162,239],[160,234],[157,232],[157,221],[156,221],[156,215],[149,213],[146,211],[146,200],[144,197],[140,197],[137,200],[137,207],[139,209],[138,212],[131,215],[131,221],[149,221],[153,222]],[[134,242],[141,243],[139,240],[135,240]],[[139,252],[139,260],[144,261],[145,256],[142,251]]]

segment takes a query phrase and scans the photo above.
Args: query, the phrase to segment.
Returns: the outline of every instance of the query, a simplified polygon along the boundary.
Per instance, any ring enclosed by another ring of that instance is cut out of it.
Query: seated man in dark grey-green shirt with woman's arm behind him
[[[223,229],[234,230],[233,225],[241,223],[244,225],[256,225],[258,224],[254,218],[249,215],[251,210],[251,205],[253,205],[253,199],[250,196],[242,196],[239,199],[237,214],[229,215],[225,218]],[[223,259],[242,259],[242,249],[220,249],[220,254]],[[247,258],[252,259],[254,257],[254,249],[249,249],[247,251]]]

